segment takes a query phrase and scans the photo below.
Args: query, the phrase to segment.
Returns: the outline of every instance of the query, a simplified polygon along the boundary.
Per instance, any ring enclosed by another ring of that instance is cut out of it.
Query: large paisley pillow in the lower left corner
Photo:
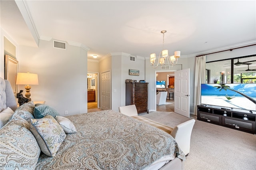
[[[0,139],[0,169],[34,170],[36,168],[41,151],[36,138],[23,126],[23,123],[8,122],[0,130]]]

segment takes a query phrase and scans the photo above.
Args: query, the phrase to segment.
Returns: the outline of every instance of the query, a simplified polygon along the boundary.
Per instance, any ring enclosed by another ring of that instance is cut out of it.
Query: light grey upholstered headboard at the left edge
[[[0,112],[7,107],[15,111],[17,103],[10,82],[0,77]]]

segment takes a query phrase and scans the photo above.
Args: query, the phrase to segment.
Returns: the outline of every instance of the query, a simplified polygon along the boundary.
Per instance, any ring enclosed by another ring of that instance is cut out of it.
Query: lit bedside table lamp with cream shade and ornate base
[[[25,85],[26,89],[26,98],[31,101],[31,94],[30,94],[30,85],[38,85],[38,75],[33,73],[18,73],[17,79],[16,79],[16,85]]]

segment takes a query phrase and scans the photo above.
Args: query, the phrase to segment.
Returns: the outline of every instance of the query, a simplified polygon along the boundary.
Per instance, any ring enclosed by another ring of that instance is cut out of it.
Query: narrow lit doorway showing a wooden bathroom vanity
[[[98,73],[87,73],[87,109],[98,109]]]

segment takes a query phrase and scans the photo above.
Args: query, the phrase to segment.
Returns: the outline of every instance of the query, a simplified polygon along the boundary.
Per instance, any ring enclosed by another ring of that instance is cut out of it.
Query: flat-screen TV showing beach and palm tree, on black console
[[[201,104],[256,111],[256,84],[201,84]]]

